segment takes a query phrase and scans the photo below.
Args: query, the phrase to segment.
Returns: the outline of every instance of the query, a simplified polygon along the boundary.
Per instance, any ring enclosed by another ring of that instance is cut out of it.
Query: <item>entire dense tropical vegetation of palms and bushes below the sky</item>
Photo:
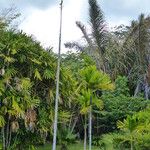
[[[17,17],[12,11],[0,17],[3,150],[35,149],[52,143],[53,136],[57,55],[13,28]],[[148,150],[150,17],[141,14],[130,26],[107,31],[97,1],[89,0],[89,18],[90,34],[76,22],[87,43],[65,43],[77,51],[61,56],[60,149],[83,140],[86,149],[87,139],[92,137],[97,149]]]

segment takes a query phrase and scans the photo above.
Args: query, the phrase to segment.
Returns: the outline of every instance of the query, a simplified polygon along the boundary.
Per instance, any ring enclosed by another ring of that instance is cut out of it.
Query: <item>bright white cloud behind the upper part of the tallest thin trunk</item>
[[[62,46],[64,42],[78,40],[82,36],[75,25],[75,21],[81,20],[86,0],[69,0],[63,7]],[[30,8],[30,15],[20,25],[20,29],[27,34],[34,35],[44,46],[58,49],[59,36],[59,6],[52,6],[46,10]],[[64,47],[63,52],[66,52]]]

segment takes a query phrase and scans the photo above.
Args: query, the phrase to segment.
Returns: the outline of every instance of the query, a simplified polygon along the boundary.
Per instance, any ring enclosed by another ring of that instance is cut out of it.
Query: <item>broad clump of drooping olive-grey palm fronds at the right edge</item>
[[[126,75],[130,88],[137,96],[141,91],[149,95],[150,81],[150,17],[141,14],[130,26],[118,26],[108,34],[105,57],[110,76]],[[135,80],[136,79],[136,80]]]

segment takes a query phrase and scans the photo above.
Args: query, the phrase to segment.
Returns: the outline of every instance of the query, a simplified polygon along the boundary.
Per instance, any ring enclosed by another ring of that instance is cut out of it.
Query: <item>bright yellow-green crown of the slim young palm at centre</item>
[[[81,72],[83,90],[79,96],[79,104],[81,106],[81,113],[87,114],[91,106],[90,101],[92,98],[92,106],[96,106],[98,109],[103,108],[103,103],[96,94],[97,90],[110,90],[113,89],[113,84],[109,76],[102,71],[98,71],[96,66],[89,66],[82,69]]]

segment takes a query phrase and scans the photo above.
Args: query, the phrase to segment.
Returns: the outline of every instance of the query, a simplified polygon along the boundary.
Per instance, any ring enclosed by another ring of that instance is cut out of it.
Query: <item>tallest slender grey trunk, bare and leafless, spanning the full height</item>
[[[60,74],[60,59],[61,59],[61,31],[62,31],[62,5],[63,0],[60,3],[60,33],[59,33],[59,50],[58,50],[58,64],[56,74],[56,100],[55,100],[55,118],[54,118],[54,134],[53,134],[53,146],[52,150],[56,150],[56,136],[57,136],[57,120],[58,120],[58,99],[59,99],[59,74]]]

